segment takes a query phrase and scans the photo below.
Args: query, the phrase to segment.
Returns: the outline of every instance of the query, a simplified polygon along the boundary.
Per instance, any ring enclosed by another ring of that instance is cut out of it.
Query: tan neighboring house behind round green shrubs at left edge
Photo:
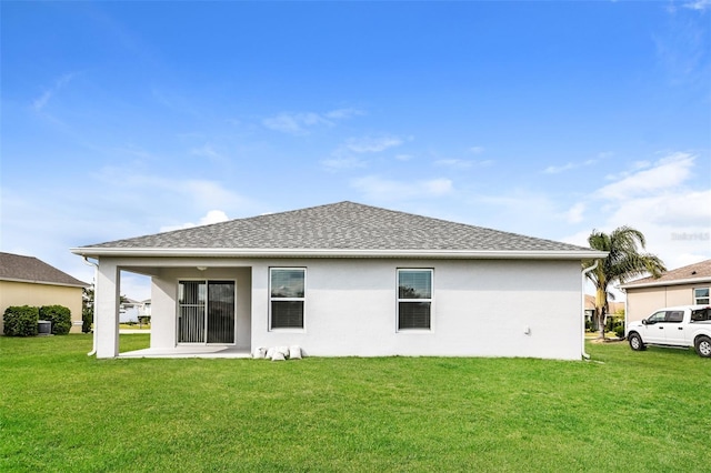
[[[88,284],[32,256],[0,253],[0,333],[11,305],[63,305],[71,311],[71,333],[81,333],[82,288]]]

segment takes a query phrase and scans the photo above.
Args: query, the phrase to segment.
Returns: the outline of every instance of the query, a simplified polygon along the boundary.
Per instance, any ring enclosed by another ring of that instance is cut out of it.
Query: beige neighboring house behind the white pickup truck
[[[642,320],[657,309],[673,305],[708,304],[711,260],[667,271],[661,278],[643,278],[621,284],[627,293],[627,320]]]

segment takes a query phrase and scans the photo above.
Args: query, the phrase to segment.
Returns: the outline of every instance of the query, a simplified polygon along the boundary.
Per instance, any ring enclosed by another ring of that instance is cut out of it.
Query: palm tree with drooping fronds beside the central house
[[[604,339],[608,296],[612,296],[608,292],[610,284],[624,283],[630,278],[648,273],[659,278],[667,268],[659,256],[640,252],[638,245],[644,249],[644,235],[630,227],[620,227],[610,234],[593,230],[588,243],[595,250],[609,252],[604,259],[584,261],[582,264],[583,268],[590,268],[598,261],[598,268],[588,273],[588,279],[595,285],[595,318],[600,338]]]

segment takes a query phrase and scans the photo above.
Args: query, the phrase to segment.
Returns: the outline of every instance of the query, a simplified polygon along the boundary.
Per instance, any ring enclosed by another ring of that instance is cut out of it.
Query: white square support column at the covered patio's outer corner
[[[94,294],[97,331],[97,358],[119,355],[120,273],[111,260],[99,260]]]

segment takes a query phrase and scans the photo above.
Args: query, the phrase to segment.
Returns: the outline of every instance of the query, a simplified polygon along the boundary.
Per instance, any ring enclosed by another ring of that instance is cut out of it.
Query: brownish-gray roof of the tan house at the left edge
[[[0,253],[0,280],[81,288],[89,285],[37,258],[12,253]]]

